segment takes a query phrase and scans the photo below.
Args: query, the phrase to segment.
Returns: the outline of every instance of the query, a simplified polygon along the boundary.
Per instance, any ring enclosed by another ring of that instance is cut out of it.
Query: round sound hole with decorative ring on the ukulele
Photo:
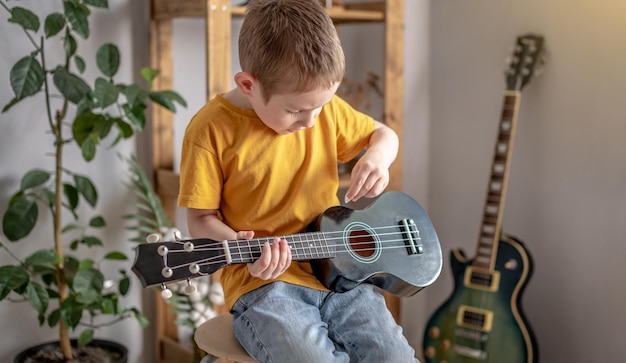
[[[376,231],[363,222],[352,222],[343,231],[343,242],[350,256],[362,263],[371,263],[382,255]]]

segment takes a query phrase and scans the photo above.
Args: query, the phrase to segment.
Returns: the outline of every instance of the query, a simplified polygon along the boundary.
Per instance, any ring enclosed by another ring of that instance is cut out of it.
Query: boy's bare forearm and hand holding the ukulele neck
[[[193,238],[210,238],[215,241],[251,239],[253,231],[235,232],[217,216],[216,209],[187,208],[187,227]],[[250,275],[270,280],[280,276],[291,265],[291,249],[287,241],[274,238],[272,245],[265,242],[261,257],[248,264]]]

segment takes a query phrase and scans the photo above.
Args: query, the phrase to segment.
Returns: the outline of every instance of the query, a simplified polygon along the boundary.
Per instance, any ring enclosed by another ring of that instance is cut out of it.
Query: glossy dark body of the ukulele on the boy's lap
[[[410,221],[411,236],[405,221]],[[441,272],[435,229],[422,206],[406,194],[384,193],[363,210],[329,208],[318,224],[321,232],[342,235],[334,246],[335,257],[311,261],[315,275],[330,290],[347,291],[367,282],[397,296],[411,296]]]

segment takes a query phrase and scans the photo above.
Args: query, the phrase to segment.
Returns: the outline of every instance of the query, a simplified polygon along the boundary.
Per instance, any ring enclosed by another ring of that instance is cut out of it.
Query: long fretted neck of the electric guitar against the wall
[[[502,115],[498,127],[487,199],[473,265],[492,270],[495,265],[502,225],[502,214],[515,139],[515,127],[520,103],[519,91],[507,91],[504,95]]]

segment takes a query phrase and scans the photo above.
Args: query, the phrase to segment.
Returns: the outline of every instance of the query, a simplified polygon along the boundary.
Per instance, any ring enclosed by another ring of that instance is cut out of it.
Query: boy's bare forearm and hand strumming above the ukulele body
[[[354,165],[350,174],[350,186],[345,201],[361,197],[373,198],[382,193],[389,184],[389,167],[398,155],[398,135],[381,122],[374,121],[376,128],[370,136],[365,154]]]

